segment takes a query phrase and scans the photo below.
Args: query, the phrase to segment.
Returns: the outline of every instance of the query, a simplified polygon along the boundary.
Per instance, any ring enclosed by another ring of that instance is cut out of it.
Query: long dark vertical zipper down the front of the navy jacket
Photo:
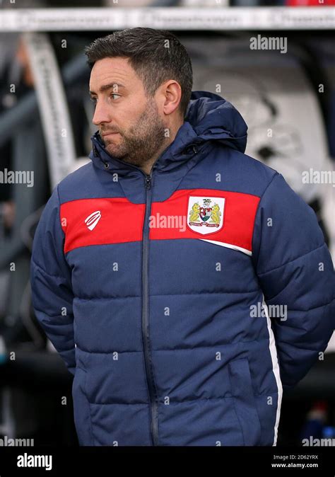
[[[151,179],[152,173],[146,174],[146,214],[143,224],[142,241],[142,340],[144,350],[144,362],[146,366],[146,380],[148,383],[150,401],[150,430],[153,446],[158,445],[158,396],[155,389],[153,377],[153,362],[151,356],[151,345],[149,339],[148,320],[148,245],[149,245],[149,221],[151,212]]]

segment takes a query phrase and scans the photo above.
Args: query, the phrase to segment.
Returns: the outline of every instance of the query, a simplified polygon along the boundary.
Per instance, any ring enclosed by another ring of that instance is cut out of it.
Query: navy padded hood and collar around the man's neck
[[[91,137],[93,149],[90,159],[99,168],[118,169],[130,166],[105,150],[99,132]],[[247,125],[240,113],[227,100],[208,91],[192,91],[184,123],[174,141],[155,162],[155,168],[168,170],[187,161],[206,143],[217,141],[240,152],[247,145]]]

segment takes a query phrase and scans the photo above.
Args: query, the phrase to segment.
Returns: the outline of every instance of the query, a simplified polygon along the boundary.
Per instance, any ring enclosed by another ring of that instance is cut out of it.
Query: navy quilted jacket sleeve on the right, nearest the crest
[[[307,374],[334,331],[335,274],[315,212],[279,173],[259,202],[252,250],[268,310],[281,309],[269,315],[281,381],[290,388]]]

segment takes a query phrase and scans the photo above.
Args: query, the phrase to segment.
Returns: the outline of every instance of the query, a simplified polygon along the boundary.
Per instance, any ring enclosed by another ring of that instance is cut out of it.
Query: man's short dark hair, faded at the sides
[[[154,28],[127,28],[97,38],[85,48],[85,54],[90,69],[99,59],[129,58],[148,96],[153,96],[164,81],[175,79],[182,89],[180,113],[185,116],[192,93],[192,62],[173,33]]]

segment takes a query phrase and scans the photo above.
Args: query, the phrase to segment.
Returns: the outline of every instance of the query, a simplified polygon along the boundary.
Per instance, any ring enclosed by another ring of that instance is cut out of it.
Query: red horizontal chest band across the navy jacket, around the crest
[[[218,231],[215,227],[208,228],[208,234],[192,230],[189,226],[190,197],[225,199]],[[177,190],[164,202],[152,203],[149,237],[151,240],[203,238],[251,251],[258,204],[259,197],[242,192]],[[145,204],[134,204],[122,197],[65,202],[60,209],[65,234],[64,253],[82,246],[141,241],[144,214]]]

